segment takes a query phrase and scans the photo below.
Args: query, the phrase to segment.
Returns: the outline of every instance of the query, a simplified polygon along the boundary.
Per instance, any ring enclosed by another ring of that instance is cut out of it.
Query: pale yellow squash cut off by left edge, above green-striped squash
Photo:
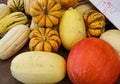
[[[0,20],[10,13],[11,10],[6,4],[0,4]]]

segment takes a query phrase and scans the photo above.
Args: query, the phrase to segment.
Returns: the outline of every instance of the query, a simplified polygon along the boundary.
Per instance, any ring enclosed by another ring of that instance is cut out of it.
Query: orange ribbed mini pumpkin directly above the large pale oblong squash
[[[61,45],[57,30],[52,28],[35,29],[30,33],[29,38],[29,49],[32,51],[57,52]]]

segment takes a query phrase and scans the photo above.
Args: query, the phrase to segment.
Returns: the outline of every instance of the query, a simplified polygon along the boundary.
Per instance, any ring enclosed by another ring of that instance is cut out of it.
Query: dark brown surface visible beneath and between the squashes
[[[0,3],[6,3],[6,0],[0,0]],[[22,84],[12,77],[11,72],[10,72],[10,64],[11,64],[12,59],[17,54],[26,52],[26,51],[29,51],[28,43],[26,43],[26,45],[10,59],[4,60],[4,61],[0,60],[0,84]],[[69,52],[66,49],[64,49],[62,46],[60,47],[58,51],[58,54],[63,56],[65,59],[67,59],[68,53]],[[72,83],[66,74],[66,77],[58,84],[72,84]],[[120,78],[117,80],[115,84],[120,84]]]

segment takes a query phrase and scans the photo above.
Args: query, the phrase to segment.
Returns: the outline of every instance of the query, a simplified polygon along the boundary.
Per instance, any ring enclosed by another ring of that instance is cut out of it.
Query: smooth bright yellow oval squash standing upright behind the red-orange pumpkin
[[[70,50],[79,40],[86,38],[86,28],[82,15],[75,9],[68,9],[63,14],[59,26],[63,46]]]

